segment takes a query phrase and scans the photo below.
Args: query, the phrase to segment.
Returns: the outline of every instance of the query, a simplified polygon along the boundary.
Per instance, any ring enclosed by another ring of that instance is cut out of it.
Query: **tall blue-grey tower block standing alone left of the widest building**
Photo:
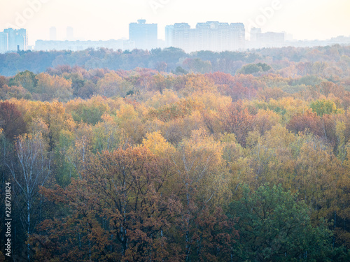
[[[129,39],[135,48],[151,50],[158,46],[158,24],[146,24],[146,20],[137,20],[129,24]]]

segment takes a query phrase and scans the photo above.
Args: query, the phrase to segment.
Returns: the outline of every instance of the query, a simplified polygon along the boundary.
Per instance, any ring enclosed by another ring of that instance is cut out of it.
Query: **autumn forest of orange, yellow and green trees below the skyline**
[[[350,46],[0,54],[0,174],[0,261],[350,261]]]

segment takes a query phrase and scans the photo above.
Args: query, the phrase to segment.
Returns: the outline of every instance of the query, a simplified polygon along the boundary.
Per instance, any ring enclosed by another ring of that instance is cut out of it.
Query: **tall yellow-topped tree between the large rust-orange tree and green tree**
[[[221,224],[224,219],[222,210],[216,210],[216,219],[210,217],[214,214],[215,203],[218,203],[218,199],[221,199],[225,195],[227,190],[225,185],[225,170],[223,167],[223,159],[221,157],[223,148],[218,141],[215,141],[212,137],[208,136],[207,132],[203,129],[195,130],[192,133],[190,139],[183,140],[179,145],[179,150],[172,157],[174,162],[174,168],[177,176],[179,177],[177,183],[183,190],[183,196],[181,198],[184,206],[182,217],[183,238],[181,238],[181,245],[186,254],[186,261],[190,261],[197,257],[196,252],[200,252],[200,249],[204,248],[202,243],[205,242],[204,235],[198,235],[197,228],[200,226],[198,223],[206,217],[208,221],[213,219],[215,223]],[[220,174],[220,175],[219,175]],[[204,215],[205,214],[205,215]],[[217,226],[218,226],[217,224]],[[221,224],[223,226],[223,224]],[[213,233],[214,231],[207,233]],[[223,237],[230,238],[230,241],[235,238],[230,235],[235,235],[232,228],[227,224],[227,232],[222,232]],[[230,231],[231,230],[231,231]],[[230,233],[229,233],[230,232]],[[203,232],[204,233],[204,232]],[[228,235],[225,236],[225,233]],[[225,249],[223,245],[218,242],[214,242],[213,245],[218,245]],[[204,250],[203,250],[204,252]]]

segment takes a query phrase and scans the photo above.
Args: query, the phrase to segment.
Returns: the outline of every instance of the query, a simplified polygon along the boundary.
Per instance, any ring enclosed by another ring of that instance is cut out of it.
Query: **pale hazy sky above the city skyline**
[[[57,27],[59,40],[66,27],[85,40],[129,38],[128,24],[141,18],[158,23],[163,39],[167,24],[213,20],[286,31],[295,39],[350,36],[349,0],[0,0],[0,31],[24,27],[31,45],[48,40],[50,27]]]

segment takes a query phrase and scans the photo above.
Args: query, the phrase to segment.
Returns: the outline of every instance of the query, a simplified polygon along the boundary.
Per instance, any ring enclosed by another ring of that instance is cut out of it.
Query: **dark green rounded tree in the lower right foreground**
[[[328,261],[335,255],[325,223],[312,227],[307,205],[281,185],[255,192],[244,186],[229,216],[238,219],[240,238],[232,247],[237,261]]]

